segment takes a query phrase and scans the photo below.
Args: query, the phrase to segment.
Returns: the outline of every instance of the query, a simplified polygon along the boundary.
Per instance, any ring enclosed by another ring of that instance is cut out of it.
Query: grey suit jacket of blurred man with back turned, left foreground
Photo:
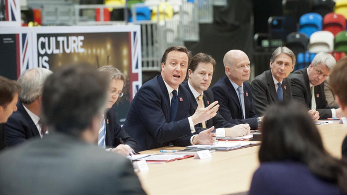
[[[0,172],[0,194],[145,194],[129,160],[59,133],[5,150]]]

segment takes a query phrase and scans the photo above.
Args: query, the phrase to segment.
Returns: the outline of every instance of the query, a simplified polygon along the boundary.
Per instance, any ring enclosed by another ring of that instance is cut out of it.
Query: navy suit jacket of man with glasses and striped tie
[[[116,121],[116,112],[110,108],[106,113],[106,147],[117,147],[120,144],[119,138],[124,141],[124,144],[129,145],[135,152],[137,150],[136,141],[131,138],[127,132]]]

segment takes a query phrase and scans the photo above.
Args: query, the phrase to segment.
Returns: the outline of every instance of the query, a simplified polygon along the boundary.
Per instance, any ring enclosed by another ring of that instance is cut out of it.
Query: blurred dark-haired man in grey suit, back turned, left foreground
[[[0,155],[0,194],[145,194],[129,160],[95,145],[107,90],[88,66],[49,76],[42,119],[51,132]]]

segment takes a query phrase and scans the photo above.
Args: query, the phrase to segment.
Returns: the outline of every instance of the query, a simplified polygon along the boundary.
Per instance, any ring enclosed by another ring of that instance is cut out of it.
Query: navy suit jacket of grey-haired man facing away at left
[[[40,137],[39,130],[26,112],[22,102],[18,101],[17,111],[13,112],[6,122],[6,141],[14,146],[33,137]]]

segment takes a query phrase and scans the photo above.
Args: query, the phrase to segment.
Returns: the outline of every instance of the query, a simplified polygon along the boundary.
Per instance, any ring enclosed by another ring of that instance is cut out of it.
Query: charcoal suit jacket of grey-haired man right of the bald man
[[[264,115],[269,105],[279,102],[271,70],[265,70],[262,74],[256,76],[251,83],[251,87],[257,115]],[[293,96],[291,95],[290,79],[283,79],[281,87],[283,102],[291,101]]]

